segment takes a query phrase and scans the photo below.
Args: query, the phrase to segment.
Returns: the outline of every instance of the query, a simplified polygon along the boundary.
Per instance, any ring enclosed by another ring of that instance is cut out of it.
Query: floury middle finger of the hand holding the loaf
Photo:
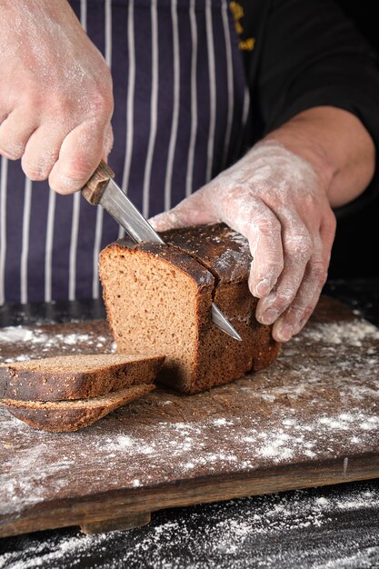
[[[273,324],[294,301],[302,284],[306,265],[314,252],[314,241],[300,217],[285,212],[282,214],[282,220],[284,270],[275,289],[257,304],[255,317],[262,324]]]

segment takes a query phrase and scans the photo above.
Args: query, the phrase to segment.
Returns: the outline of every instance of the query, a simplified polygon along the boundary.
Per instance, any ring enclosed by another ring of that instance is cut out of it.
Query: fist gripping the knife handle
[[[0,154],[32,180],[80,189],[112,147],[112,80],[65,0],[0,9]]]

